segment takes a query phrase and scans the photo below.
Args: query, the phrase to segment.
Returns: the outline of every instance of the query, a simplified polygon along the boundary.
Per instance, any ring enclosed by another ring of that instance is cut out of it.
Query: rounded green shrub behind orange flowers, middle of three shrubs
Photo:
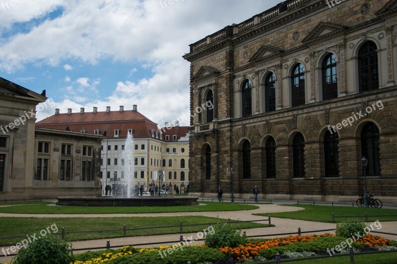
[[[210,248],[237,247],[247,242],[245,233],[228,223],[220,222],[215,225],[213,234],[206,234],[205,245]]]

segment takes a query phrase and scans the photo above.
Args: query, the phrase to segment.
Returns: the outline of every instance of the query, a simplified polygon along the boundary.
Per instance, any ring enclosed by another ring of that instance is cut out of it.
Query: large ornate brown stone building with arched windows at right
[[[397,203],[397,0],[327,2],[190,45],[191,194]]]

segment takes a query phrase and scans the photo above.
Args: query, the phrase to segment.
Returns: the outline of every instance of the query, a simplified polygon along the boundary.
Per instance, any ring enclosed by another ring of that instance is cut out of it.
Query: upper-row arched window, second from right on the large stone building
[[[323,100],[337,97],[336,57],[330,53],[323,60]]]

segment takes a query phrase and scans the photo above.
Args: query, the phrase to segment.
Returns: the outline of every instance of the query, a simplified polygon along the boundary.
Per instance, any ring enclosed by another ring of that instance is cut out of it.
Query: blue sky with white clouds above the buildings
[[[0,0],[0,77],[60,108],[189,125],[189,45],[280,0]]]

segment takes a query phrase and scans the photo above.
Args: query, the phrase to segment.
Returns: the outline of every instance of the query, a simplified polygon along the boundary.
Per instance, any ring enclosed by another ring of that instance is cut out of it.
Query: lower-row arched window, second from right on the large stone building
[[[326,177],[339,176],[338,134],[328,130],[324,136],[324,168]]]

